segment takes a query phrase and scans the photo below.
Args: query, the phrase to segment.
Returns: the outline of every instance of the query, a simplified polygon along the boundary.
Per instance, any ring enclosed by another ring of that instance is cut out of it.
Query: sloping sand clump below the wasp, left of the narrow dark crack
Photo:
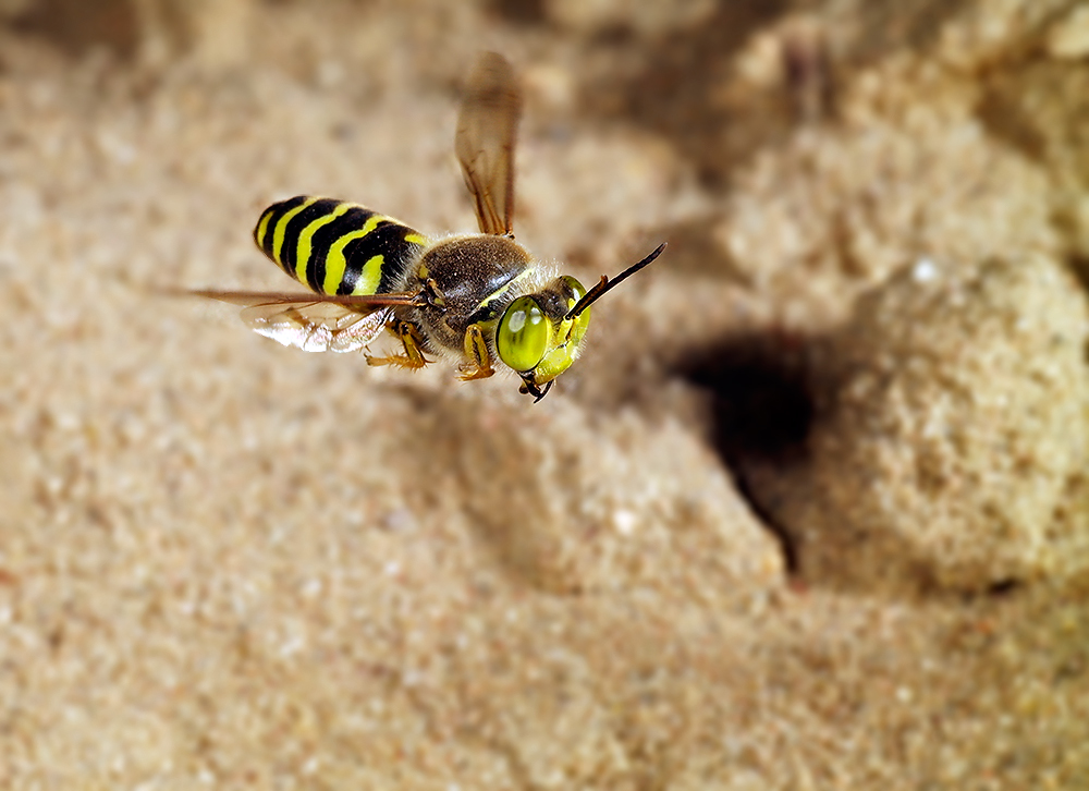
[[[523,582],[592,594],[668,580],[677,596],[714,592],[720,606],[739,610],[781,583],[778,543],[680,425],[648,426],[632,412],[587,422],[567,404],[529,419],[517,405],[484,407],[474,399],[451,406],[428,417],[443,426],[441,452],[420,447],[412,455],[426,459],[430,450],[456,471],[460,501],[451,506],[469,514],[480,539]],[[406,437],[404,447],[414,445]],[[425,463],[420,473],[442,479],[449,470]],[[662,530],[666,524],[675,530]]]

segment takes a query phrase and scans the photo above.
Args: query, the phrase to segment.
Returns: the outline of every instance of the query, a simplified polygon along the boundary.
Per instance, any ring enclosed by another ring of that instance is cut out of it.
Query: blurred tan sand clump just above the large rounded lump
[[[1054,247],[1048,188],[974,119],[922,111],[907,124],[808,131],[760,157],[738,175],[715,238],[786,324],[821,312],[836,320],[852,295],[914,255],[972,261]],[[956,220],[962,210],[970,224]]]

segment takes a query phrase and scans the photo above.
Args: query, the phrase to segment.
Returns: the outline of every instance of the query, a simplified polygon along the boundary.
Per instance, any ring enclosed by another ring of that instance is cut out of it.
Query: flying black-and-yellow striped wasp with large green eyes
[[[421,368],[427,354],[460,362],[462,380],[501,363],[540,401],[578,358],[590,304],[657,258],[587,290],[538,264],[514,241],[514,145],[522,90],[494,52],[478,60],[457,119],[454,148],[480,233],[427,239],[357,204],[298,196],[265,209],[254,241],[315,293],[193,291],[244,305],[256,332],[307,352],[366,350],[383,330],[400,341],[370,365]]]

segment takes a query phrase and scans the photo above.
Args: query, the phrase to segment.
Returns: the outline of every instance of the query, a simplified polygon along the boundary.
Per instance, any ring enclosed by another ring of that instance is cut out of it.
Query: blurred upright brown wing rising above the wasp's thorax
[[[514,69],[495,52],[477,60],[465,86],[454,150],[473,194],[482,233],[510,234],[514,217],[514,143],[522,89]]]

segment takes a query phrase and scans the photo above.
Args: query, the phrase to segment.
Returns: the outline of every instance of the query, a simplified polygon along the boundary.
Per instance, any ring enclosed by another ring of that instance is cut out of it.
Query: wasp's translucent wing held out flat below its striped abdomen
[[[334,295],[267,291],[189,291],[244,305],[255,332],[304,352],[354,352],[377,338],[395,305],[418,305],[418,293]]]

